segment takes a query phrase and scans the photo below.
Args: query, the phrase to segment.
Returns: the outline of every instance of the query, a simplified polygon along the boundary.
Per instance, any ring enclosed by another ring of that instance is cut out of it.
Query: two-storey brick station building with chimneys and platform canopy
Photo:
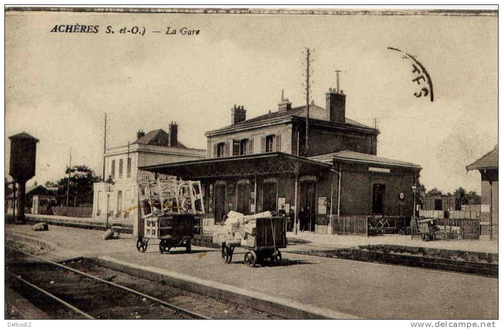
[[[330,88],[326,103],[278,110],[246,119],[230,109],[230,125],[207,131],[207,158],[140,167],[157,178],[201,181],[211,230],[234,210],[243,214],[300,207],[309,230],[332,234],[343,216],[410,216],[412,185],[421,167],[377,156],[379,130],[346,117],[346,95]],[[306,119],[308,132],[306,147]],[[204,229],[203,229],[204,230]]]

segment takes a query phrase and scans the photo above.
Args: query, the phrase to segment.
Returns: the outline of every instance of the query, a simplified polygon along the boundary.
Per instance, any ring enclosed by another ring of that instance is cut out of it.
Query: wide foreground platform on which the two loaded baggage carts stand
[[[151,273],[153,279],[178,277],[207,291],[233,293],[243,302],[265,300],[276,305],[294,305],[289,311],[335,318],[495,318],[497,279],[459,273],[363,263],[284,253],[281,266],[243,265],[242,257],[224,264],[220,250],[194,247],[160,254],[157,244],[145,253],[135,248],[135,239],[102,240],[94,230],[50,226],[35,232],[31,226],[8,225],[7,239],[27,237],[49,241],[53,250],[66,251]],[[52,251],[49,251],[49,254]],[[237,253],[244,250],[236,249]],[[185,282],[184,281],[184,282]],[[410,287],[422,287],[410,298]],[[212,290],[212,291],[213,291]],[[466,300],[484,300],[466,303]],[[379,305],[379,307],[375,307]],[[314,316],[313,316],[314,317]]]

